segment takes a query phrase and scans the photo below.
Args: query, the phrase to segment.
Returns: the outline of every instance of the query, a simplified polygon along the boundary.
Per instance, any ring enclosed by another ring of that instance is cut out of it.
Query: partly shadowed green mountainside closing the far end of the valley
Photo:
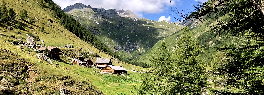
[[[121,57],[138,56],[148,51],[160,39],[183,28],[169,21],[109,18],[90,8],[73,9],[67,13],[78,19],[105,44],[115,49]]]

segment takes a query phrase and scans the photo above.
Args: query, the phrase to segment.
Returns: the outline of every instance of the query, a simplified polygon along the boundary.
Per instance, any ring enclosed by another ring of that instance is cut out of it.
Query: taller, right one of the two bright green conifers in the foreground
[[[204,53],[204,49],[185,27],[174,48],[176,72],[169,84],[170,94],[201,95],[205,92],[208,82],[201,53]]]

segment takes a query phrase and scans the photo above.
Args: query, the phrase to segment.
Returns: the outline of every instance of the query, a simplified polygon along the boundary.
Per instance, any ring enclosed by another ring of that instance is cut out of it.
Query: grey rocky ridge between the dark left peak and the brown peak
[[[109,10],[105,10],[104,8],[93,8],[93,11],[97,12],[97,13],[101,13],[106,17],[120,17],[117,14],[116,9],[109,9]]]

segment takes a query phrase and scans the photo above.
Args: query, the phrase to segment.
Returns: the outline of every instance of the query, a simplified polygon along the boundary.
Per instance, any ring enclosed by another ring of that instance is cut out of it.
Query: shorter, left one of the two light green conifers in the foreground
[[[165,95],[173,74],[171,52],[163,40],[161,46],[150,59],[150,70],[142,74],[140,88],[135,88],[135,95]],[[150,71],[153,71],[151,74]],[[174,91],[174,90],[173,90]]]

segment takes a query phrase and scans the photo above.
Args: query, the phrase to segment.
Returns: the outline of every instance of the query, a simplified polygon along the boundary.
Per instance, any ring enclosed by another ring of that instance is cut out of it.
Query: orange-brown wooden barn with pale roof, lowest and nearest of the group
[[[124,67],[112,66],[112,65],[107,65],[101,69],[102,69],[102,73],[126,73],[128,71]]]

